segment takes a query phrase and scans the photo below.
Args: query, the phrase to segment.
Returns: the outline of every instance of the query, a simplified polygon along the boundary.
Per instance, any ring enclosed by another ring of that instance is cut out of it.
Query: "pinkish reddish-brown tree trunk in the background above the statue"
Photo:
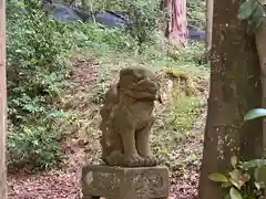
[[[187,39],[186,0],[168,0],[167,7],[172,15],[167,24],[170,43],[180,49]]]

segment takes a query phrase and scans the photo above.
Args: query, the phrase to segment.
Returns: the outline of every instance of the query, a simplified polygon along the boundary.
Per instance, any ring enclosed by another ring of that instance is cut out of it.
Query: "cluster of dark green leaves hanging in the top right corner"
[[[238,10],[238,18],[247,20],[253,32],[255,32],[263,22],[265,11],[266,9],[259,0],[242,0]]]

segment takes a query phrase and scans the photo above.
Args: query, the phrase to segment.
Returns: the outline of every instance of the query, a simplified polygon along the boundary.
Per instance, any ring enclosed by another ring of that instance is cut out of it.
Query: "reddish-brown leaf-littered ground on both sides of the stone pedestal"
[[[95,69],[98,63],[80,57],[74,62],[75,67],[70,74],[64,96],[58,100],[61,107],[73,113],[69,123],[60,123],[61,130],[68,132],[65,140],[61,143],[65,154],[64,165],[60,169],[42,174],[28,175],[21,171],[10,175],[8,177],[10,199],[81,199],[82,165],[101,161],[98,126],[102,90],[99,88],[101,82]],[[192,130],[174,151],[174,158],[178,159],[178,164],[171,166],[172,199],[197,198],[205,119],[206,106],[203,106],[203,112]],[[191,151],[197,151],[197,156],[191,157],[194,155]]]

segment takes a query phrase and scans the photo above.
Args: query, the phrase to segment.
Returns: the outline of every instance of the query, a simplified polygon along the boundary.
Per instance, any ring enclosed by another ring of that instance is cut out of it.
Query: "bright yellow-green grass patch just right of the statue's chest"
[[[200,97],[185,97],[173,100],[165,114],[158,118],[153,145],[158,150],[171,153],[180,145],[180,140],[185,138],[195,119],[202,113]]]

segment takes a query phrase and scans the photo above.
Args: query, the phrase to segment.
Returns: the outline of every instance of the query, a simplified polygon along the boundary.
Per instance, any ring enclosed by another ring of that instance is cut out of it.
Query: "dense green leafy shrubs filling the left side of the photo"
[[[9,165],[50,168],[60,160],[52,97],[68,69],[68,28],[37,9],[38,1],[7,2]]]

